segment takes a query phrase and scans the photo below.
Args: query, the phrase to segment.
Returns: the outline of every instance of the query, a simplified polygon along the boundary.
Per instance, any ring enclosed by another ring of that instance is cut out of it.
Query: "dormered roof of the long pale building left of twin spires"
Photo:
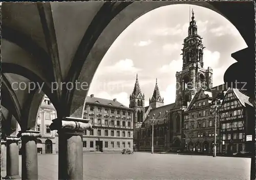
[[[125,108],[125,109],[130,109],[134,110],[132,108],[126,107],[125,105],[121,104],[118,101],[110,100],[110,99],[103,99],[103,98],[96,98],[96,97],[91,97],[87,96],[86,97],[86,104],[95,104],[98,106],[112,106],[112,107],[119,107],[119,108]]]

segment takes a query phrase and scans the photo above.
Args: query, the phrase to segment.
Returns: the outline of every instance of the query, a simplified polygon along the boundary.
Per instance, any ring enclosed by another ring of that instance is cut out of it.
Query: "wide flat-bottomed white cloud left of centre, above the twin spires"
[[[105,73],[111,73],[111,74],[117,74],[117,73],[129,73],[134,74],[141,71],[141,69],[138,69],[134,66],[132,59],[122,59],[116,62],[114,65],[105,66],[105,68],[102,68],[101,71],[99,71],[100,74]]]

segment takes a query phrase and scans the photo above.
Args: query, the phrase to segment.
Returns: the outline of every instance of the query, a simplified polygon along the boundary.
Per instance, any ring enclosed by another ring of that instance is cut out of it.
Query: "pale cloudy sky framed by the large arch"
[[[137,18],[115,40],[94,75],[88,95],[114,99],[129,107],[136,73],[145,106],[156,78],[164,105],[175,102],[176,72],[182,71],[182,43],[187,37],[189,6],[194,10],[198,34],[203,37],[204,69],[213,69],[213,86],[223,84],[231,54],[247,48],[238,30],[215,11],[192,5],[169,5]],[[191,16],[191,15],[190,15]]]

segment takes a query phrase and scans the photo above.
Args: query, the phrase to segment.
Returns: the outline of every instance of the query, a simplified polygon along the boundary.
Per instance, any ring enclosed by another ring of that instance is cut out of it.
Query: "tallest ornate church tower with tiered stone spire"
[[[202,37],[197,34],[197,24],[192,10],[188,36],[182,49],[183,66],[176,72],[176,107],[187,106],[199,89],[212,87],[212,69],[204,69]]]

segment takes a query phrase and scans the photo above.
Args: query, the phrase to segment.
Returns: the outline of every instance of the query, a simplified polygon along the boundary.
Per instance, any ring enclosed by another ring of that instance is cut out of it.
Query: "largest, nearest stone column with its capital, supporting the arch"
[[[66,117],[55,119],[51,130],[58,130],[58,179],[83,179],[83,130],[91,129],[90,120]]]

